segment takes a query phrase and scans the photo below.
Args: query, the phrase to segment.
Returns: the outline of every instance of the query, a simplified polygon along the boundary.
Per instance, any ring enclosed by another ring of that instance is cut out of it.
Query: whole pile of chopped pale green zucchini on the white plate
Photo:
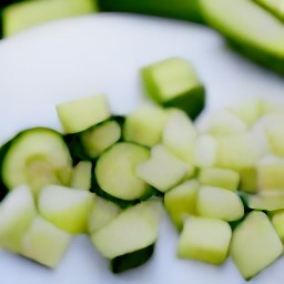
[[[163,205],[178,257],[231,256],[250,280],[283,253],[284,112],[253,100],[195,123],[205,89],[189,62],[142,77],[161,105],[116,116],[103,94],[62,102],[63,133],[28,129],[2,145],[0,246],[55,267],[88,234],[121,273],[153,254]]]

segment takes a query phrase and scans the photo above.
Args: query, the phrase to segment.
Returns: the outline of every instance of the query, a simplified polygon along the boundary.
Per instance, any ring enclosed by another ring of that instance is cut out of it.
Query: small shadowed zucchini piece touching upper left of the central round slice
[[[92,160],[118,142],[120,138],[120,124],[114,120],[110,120],[83,131],[80,140],[84,153]]]

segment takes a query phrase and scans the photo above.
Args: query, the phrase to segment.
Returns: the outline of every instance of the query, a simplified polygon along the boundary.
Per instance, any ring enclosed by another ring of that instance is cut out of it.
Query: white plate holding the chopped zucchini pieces
[[[144,100],[139,69],[175,55],[194,64],[207,89],[207,110],[257,95],[284,100],[281,78],[227,50],[206,28],[123,14],[83,17],[0,42],[0,141],[27,126],[60,129],[54,104],[68,99],[104,92],[115,113],[126,113]],[[178,260],[176,241],[164,219],[152,260],[122,275],[111,274],[85,236],[74,239],[54,271],[0,251],[0,283],[245,283],[230,260],[221,267]],[[283,283],[283,265],[282,257],[251,283]]]

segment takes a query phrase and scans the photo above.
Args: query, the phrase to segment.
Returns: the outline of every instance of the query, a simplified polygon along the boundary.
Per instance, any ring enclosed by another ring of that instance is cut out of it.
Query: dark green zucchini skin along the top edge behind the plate
[[[203,22],[197,0],[99,0],[102,11],[142,13]]]

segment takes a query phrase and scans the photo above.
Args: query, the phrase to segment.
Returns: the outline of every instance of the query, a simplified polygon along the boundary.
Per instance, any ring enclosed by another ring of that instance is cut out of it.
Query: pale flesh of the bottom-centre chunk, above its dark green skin
[[[159,220],[160,203],[146,201],[120,213],[92,234],[91,240],[99,252],[111,260],[155,243]]]

